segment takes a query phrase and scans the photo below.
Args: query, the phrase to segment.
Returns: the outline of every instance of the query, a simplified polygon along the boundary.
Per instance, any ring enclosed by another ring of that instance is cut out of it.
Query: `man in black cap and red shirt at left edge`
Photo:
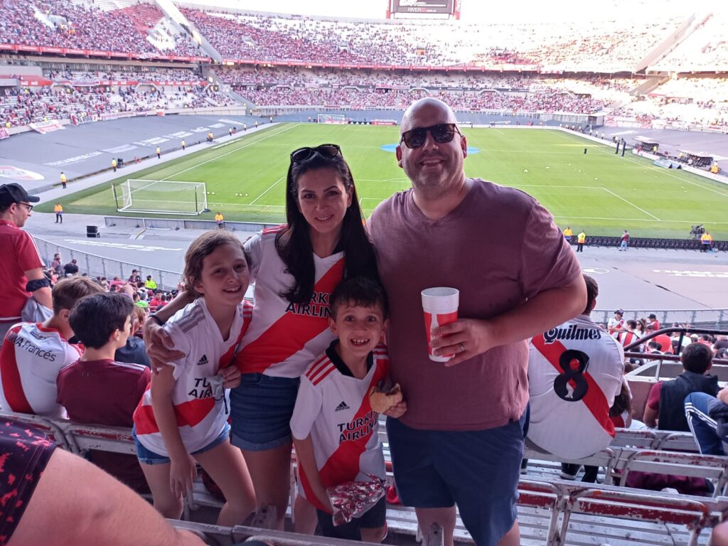
[[[28,195],[19,184],[0,186],[0,339],[20,322],[30,296],[52,308],[43,259],[31,234],[20,229],[30,218],[33,203],[39,201],[40,197]]]

